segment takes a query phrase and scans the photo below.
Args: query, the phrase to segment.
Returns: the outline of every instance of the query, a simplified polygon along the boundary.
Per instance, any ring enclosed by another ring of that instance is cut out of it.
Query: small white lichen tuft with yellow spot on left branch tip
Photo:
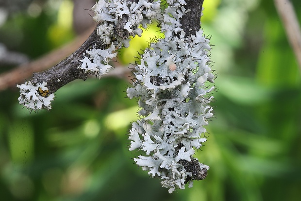
[[[53,101],[54,94],[49,94],[47,83],[33,85],[31,82],[17,85],[20,88],[20,96],[18,101],[21,105],[31,111],[40,109],[51,109],[51,101]]]

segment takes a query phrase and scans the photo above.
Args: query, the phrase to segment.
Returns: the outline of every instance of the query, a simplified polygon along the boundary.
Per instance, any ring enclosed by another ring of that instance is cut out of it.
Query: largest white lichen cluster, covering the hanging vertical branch
[[[181,28],[180,18],[189,12],[183,7],[184,0],[167,0],[167,4],[158,18],[165,38],[141,55],[134,86],[127,94],[137,98],[141,107],[141,119],[133,123],[129,139],[130,151],[144,153],[134,161],[152,177],[160,177],[171,193],[204,178],[196,178],[184,164],[197,161],[195,150],[206,141],[204,126],[213,116],[208,104],[214,89],[206,81],[213,82],[215,76],[209,67],[209,39],[202,30],[186,37]],[[200,171],[207,172],[208,166],[197,163]]]

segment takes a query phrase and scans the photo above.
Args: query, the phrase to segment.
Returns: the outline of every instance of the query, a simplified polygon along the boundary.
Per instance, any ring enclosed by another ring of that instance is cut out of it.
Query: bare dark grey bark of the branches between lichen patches
[[[134,0],[130,1],[134,2]],[[196,31],[200,30],[202,3],[203,0],[186,0],[186,5],[184,6],[186,12],[180,19],[182,28],[186,33],[185,37],[195,35]],[[119,23],[117,23],[118,26],[115,27],[114,33],[116,33],[120,38],[128,38],[129,33],[124,29],[124,26],[128,21],[127,16],[124,15],[118,20]],[[33,73],[30,82],[33,85],[46,82],[49,93],[51,94],[73,80],[85,80],[87,78],[87,74],[79,67],[82,65],[80,60],[84,58],[86,50],[92,50],[95,47],[102,50],[108,48],[108,45],[103,44],[103,41],[97,34],[99,25],[100,24],[97,25],[93,33],[78,50],[74,51],[70,56],[54,67],[51,67],[46,71]]]

